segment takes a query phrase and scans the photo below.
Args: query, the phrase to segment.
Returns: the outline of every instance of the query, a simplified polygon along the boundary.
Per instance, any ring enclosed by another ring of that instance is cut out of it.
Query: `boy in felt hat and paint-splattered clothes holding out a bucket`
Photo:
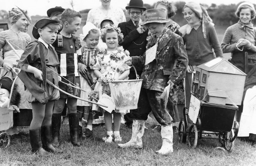
[[[156,120],[161,124],[162,147],[156,152],[168,154],[173,152],[173,129],[172,118],[174,117],[173,100],[168,94],[162,98],[164,88],[170,84],[173,88],[186,74],[188,67],[188,56],[182,37],[173,33],[166,27],[170,19],[166,18],[164,10],[146,10],[145,21],[142,22],[153,34],[148,41],[146,54],[143,56],[132,56],[128,62],[145,62],[141,74],[142,92],[141,102],[150,106]],[[139,60],[138,60],[139,59]],[[174,62],[177,62],[174,69]],[[142,136],[144,134],[145,120],[151,110],[140,109],[132,112],[132,138],[126,144],[118,144],[121,148],[142,148]]]

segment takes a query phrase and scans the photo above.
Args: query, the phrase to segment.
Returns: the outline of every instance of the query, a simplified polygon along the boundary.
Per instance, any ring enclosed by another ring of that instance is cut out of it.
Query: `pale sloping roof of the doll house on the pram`
[[[242,72],[236,66],[228,62],[228,60],[219,57],[210,60],[204,64],[200,64],[197,67],[209,72],[228,73],[246,76],[244,72]]]

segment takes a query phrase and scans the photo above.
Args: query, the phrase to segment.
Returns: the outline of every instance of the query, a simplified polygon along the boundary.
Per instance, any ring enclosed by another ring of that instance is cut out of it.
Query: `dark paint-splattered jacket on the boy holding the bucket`
[[[164,30],[159,36],[150,38],[147,49],[154,46],[156,42],[158,42],[156,59],[144,67],[141,75],[142,88],[163,92],[169,79],[177,84],[184,78],[188,67],[188,55],[182,37],[169,29]],[[145,56],[146,53],[143,57],[132,57],[132,60],[134,61],[136,58],[145,60]],[[177,64],[173,70],[175,61]]]

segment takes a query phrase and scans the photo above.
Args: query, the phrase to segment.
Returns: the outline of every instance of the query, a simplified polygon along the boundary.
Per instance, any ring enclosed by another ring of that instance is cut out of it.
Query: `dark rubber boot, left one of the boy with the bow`
[[[41,128],[29,130],[29,135],[32,152],[37,153],[41,156],[49,156],[50,153],[44,150],[44,148],[42,148]]]

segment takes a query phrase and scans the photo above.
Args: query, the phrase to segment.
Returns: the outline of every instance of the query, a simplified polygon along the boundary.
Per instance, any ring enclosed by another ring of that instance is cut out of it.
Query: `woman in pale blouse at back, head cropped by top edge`
[[[111,0],[100,0],[101,6],[93,8],[88,12],[86,22],[91,22],[97,28],[100,28],[100,22],[103,18],[111,18],[117,26],[120,22],[126,22],[124,12],[121,8],[110,5]]]

